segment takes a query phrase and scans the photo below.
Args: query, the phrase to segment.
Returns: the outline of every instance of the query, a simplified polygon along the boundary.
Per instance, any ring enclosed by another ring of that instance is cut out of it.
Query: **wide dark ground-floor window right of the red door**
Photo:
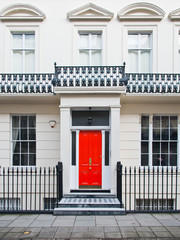
[[[141,165],[177,166],[177,152],[178,117],[154,115],[150,124],[149,116],[142,116]]]

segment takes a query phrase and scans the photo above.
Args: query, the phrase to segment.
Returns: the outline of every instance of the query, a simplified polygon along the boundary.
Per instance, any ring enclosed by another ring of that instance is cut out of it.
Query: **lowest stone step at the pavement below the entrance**
[[[55,208],[54,215],[124,215],[124,208]]]

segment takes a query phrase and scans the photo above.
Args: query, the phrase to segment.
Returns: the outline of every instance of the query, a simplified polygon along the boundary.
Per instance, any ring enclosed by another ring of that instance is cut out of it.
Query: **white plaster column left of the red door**
[[[63,193],[67,194],[70,192],[71,115],[70,106],[60,105],[59,107],[60,107],[60,161],[63,164]]]

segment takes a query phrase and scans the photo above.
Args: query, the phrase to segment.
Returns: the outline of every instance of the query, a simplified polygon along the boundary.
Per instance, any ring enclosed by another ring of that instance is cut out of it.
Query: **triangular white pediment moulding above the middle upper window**
[[[80,8],[77,8],[67,13],[67,17],[71,21],[91,21],[91,20],[103,20],[110,21],[114,14],[104,8],[101,8],[95,4],[88,3]]]

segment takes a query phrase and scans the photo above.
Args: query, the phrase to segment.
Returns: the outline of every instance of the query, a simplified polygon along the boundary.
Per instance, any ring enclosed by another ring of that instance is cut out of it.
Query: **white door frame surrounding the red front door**
[[[74,127],[71,129],[72,132],[76,132],[76,166],[71,165],[70,172],[70,190],[79,189],[79,132],[80,131],[101,131],[102,136],[102,188],[99,190],[110,190],[111,189],[111,131],[110,127]],[[105,166],[105,132],[109,132],[109,165]],[[72,146],[72,134],[71,134],[71,146]],[[72,154],[71,154],[72,161]],[[72,183],[74,184],[72,186]],[[88,190],[88,189],[85,189]],[[90,189],[92,190],[92,189]]]

